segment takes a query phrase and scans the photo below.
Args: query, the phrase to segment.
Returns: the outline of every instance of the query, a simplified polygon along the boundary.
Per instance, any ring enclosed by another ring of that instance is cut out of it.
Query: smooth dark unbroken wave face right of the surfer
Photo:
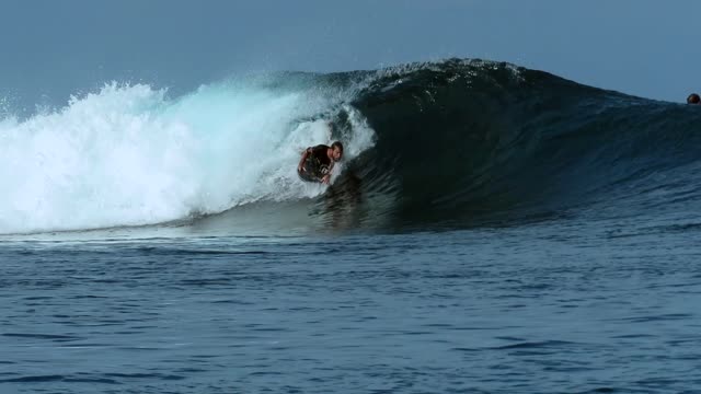
[[[518,221],[601,201],[640,208],[657,204],[641,201],[643,190],[701,185],[688,178],[701,108],[547,72],[481,60],[412,65],[378,72],[353,105],[378,136],[354,170],[370,190],[394,190],[398,225]]]

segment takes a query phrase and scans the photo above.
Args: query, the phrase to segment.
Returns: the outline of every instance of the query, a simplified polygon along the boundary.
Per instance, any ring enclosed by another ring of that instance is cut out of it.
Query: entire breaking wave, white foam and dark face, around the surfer
[[[426,228],[634,209],[662,198],[645,190],[694,195],[685,177],[700,125],[697,107],[481,60],[280,73],[177,99],[113,83],[0,121],[0,232],[225,211],[223,225],[301,216]],[[301,183],[301,150],[333,139],[346,146],[341,175],[329,188]]]

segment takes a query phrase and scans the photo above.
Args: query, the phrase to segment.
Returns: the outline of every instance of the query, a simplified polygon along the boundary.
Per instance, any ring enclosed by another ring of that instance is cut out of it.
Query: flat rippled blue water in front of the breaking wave
[[[0,392],[691,393],[701,227],[644,219],[8,240]]]

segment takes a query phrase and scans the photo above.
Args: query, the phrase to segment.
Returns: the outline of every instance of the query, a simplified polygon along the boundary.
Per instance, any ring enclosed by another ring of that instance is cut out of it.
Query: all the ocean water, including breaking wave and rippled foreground
[[[698,392],[699,125],[457,59],[5,116],[0,392]]]

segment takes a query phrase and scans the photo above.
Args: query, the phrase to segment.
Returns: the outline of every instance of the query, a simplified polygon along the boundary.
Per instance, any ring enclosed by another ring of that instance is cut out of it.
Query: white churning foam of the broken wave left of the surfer
[[[160,223],[261,199],[311,197],[301,151],[330,142],[338,92],[203,86],[179,100],[105,85],[61,111],[0,120],[0,233]],[[372,130],[352,114],[352,159]]]

